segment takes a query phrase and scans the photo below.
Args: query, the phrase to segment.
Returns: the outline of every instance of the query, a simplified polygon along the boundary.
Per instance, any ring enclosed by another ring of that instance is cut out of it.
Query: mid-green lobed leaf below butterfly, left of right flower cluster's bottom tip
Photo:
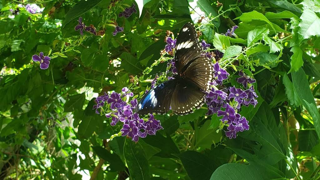
[[[210,126],[210,122],[210,120],[207,120],[200,128],[195,129],[196,147],[210,149],[212,143],[217,144],[220,142],[222,138],[221,131],[217,133],[216,129],[208,129]]]

